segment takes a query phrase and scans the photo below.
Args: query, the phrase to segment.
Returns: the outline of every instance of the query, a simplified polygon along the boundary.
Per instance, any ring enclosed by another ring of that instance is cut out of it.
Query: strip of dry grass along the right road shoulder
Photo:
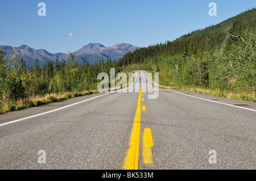
[[[154,71],[148,71],[152,73],[152,80],[154,83]],[[211,90],[205,89],[201,87],[192,87],[192,86],[178,86],[175,82],[172,82],[167,77],[164,77],[161,73],[159,73],[159,85],[160,88],[163,89],[175,89],[175,90],[183,90],[189,92],[195,92],[199,94],[207,94],[218,96],[221,98],[229,98],[229,99],[237,99],[237,100],[245,100],[249,102],[256,102],[255,92],[233,92],[233,91],[221,91],[221,90]]]

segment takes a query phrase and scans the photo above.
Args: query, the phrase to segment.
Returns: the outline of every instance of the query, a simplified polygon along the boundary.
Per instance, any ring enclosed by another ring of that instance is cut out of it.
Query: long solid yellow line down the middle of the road
[[[125,170],[137,170],[138,158],[139,158],[139,131],[141,129],[141,89],[139,91],[139,99],[137,105],[137,111],[133,122],[133,129],[131,129],[131,136],[129,140],[129,146],[123,163],[123,169]]]

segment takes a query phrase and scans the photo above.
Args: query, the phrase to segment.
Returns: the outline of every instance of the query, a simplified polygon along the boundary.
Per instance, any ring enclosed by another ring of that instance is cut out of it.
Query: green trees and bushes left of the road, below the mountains
[[[102,71],[110,73],[110,68],[116,67],[116,61],[112,63],[111,60],[103,59],[95,64],[85,62],[78,64],[75,63],[75,55],[72,53],[67,62],[59,61],[56,57],[55,65],[46,61],[46,64],[40,67],[38,60],[35,60],[34,67],[31,69],[26,69],[22,58],[6,60],[4,57],[5,53],[0,49],[0,111],[22,108],[15,103],[30,97],[96,90],[100,81],[97,75]],[[118,73],[117,70],[115,70],[116,73]],[[65,95],[65,98],[70,98],[70,95]],[[50,96],[49,102],[51,99]],[[3,104],[4,102],[6,104]],[[16,107],[10,107],[9,104]],[[35,100],[31,104],[36,106],[43,102]]]

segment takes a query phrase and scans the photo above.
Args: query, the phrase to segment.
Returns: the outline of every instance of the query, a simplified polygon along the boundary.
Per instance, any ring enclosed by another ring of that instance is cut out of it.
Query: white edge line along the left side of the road
[[[135,81],[136,81],[137,77],[138,77],[138,74],[137,74],[137,76],[136,76],[136,78],[135,78]],[[134,81],[134,83],[135,83],[135,81]],[[134,85],[134,83],[133,83],[133,85]],[[131,86],[133,86],[133,85],[131,85]],[[129,88],[130,88],[130,87],[129,87]],[[129,88],[127,88],[127,89],[129,89]],[[114,91],[114,92],[116,92],[116,91]],[[98,95],[98,96],[95,96],[95,97],[90,98],[90,99],[82,100],[81,102],[77,102],[77,103],[69,104],[68,106],[64,106],[64,107],[61,107],[61,108],[57,108],[56,110],[51,110],[51,111],[39,113],[39,114],[37,114],[37,115],[33,115],[33,116],[29,116],[29,117],[24,117],[24,118],[22,118],[22,119],[18,119],[18,120],[10,121],[10,122],[7,122],[7,123],[3,123],[3,124],[0,124],[0,127],[3,126],[3,125],[15,123],[15,122],[22,121],[22,120],[25,120],[25,119],[30,119],[30,118],[32,118],[32,117],[41,116],[41,115],[44,115],[44,114],[47,114],[47,113],[50,113],[50,112],[59,111],[59,110],[62,110],[62,109],[64,109],[64,108],[71,107],[71,106],[74,106],[74,105],[76,105],[76,104],[83,103],[83,102],[86,102],[86,101],[88,101],[88,100],[92,100],[92,99],[98,98],[98,97],[100,97],[100,96],[108,95],[108,94],[111,94],[111,93],[114,93],[114,92],[108,92],[108,93],[103,94],[103,95]]]

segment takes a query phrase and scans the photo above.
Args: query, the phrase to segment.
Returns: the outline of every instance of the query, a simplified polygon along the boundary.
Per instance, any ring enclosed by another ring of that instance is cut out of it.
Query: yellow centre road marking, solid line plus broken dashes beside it
[[[142,80],[141,80],[142,81]],[[129,140],[129,149],[126,153],[125,161],[123,163],[123,169],[125,170],[137,170],[139,159],[139,132],[141,129],[141,89],[139,90],[139,99],[137,110],[133,122],[133,128],[131,129],[131,136]],[[143,107],[143,111],[144,111]],[[144,129],[143,134],[143,162],[146,164],[152,163],[151,146],[153,146],[150,128]]]

